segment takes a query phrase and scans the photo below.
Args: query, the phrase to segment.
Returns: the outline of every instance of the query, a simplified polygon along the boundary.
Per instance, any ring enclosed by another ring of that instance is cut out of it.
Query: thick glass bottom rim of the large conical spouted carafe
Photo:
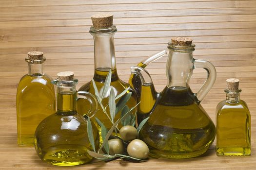
[[[168,153],[166,151],[150,150],[150,156],[155,158],[163,157],[168,159],[187,159],[200,156],[206,153],[207,150],[208,147],[192,153]]]

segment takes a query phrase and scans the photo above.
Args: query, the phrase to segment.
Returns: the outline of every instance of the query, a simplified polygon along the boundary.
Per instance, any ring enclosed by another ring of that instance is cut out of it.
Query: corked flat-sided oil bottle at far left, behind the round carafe
[[[44,73],[43,52],[27,53],[28,74],[20,79],[16,95],[18,145],[34,146],[34,133],[40,121],[55,112],[52,78]]]

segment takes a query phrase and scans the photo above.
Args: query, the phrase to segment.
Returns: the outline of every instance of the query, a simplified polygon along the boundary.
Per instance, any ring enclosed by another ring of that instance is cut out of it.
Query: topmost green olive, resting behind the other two
[[[133,126],[126,125],[120,129],[120,137],[125,141],[131,141],[137,138],[137,129]]]

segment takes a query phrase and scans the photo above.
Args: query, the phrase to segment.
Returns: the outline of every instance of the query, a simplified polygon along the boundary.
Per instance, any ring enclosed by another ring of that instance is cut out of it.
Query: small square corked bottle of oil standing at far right
[[[226,100],[216,108],[218,156],[251,154],[251,115],[246,102],[240,100],[238,79],[227,79]]]

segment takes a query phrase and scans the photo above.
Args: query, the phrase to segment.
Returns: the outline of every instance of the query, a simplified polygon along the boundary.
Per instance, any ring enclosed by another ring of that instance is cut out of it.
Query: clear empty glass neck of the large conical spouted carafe
[[[193,74],[193,60],[192,52],[170,50],[166,65],[167,87],[189,87],[189,80]]]

